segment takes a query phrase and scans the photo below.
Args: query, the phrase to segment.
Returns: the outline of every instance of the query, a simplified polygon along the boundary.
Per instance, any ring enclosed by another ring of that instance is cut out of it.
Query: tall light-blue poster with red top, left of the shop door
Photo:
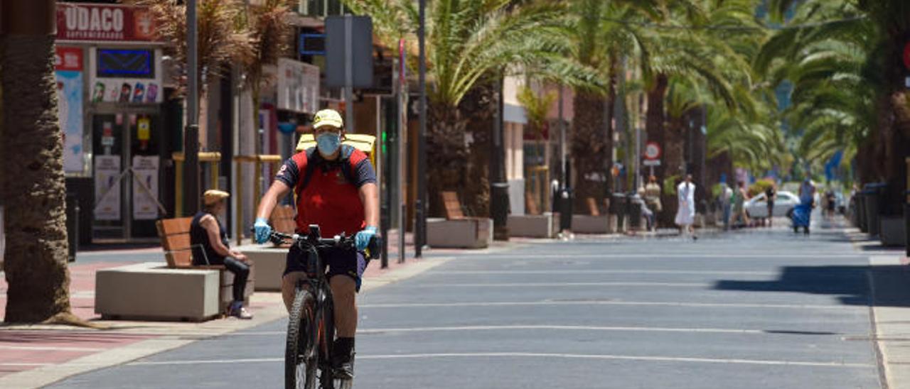
[[[57,120],[63,133],[63,168],[70,174],[86,171],[82,127],[82,49],[56,46]]]

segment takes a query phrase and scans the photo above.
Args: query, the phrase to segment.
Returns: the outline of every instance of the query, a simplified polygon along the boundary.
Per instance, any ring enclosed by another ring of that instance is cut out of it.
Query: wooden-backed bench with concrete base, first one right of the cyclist
[[[446,218],[427,219],[427,244],[431,247],[484,248],[493,239],[493,221],[486,217],[466,216],[458,194],[440,195]]]

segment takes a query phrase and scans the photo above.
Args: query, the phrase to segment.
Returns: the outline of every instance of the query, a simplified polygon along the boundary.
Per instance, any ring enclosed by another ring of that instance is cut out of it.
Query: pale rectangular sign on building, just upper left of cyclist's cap
[[[313,114],[319,107],[319,67],[278,58],[278,109]]]

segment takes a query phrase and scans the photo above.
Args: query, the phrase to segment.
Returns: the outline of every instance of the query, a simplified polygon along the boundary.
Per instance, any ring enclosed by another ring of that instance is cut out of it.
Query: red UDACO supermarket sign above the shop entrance
[[[57,3],[58,41],[153,42],[155,18],[142,6]]]

